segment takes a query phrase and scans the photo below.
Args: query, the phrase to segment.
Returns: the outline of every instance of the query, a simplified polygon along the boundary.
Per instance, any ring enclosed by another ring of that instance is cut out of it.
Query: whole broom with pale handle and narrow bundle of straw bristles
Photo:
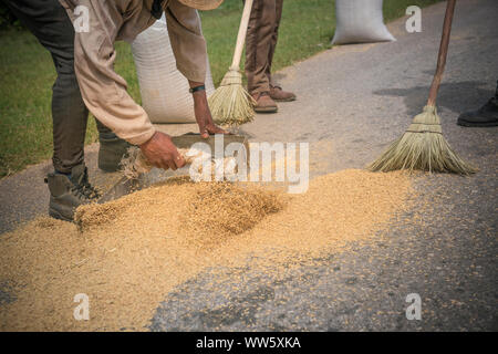
[[[219,124],[240,125],[255,117],[256,102],[243,88],[239,70],[251,9],[252,0],[246,0],[231,66],[208,100],[212,117]]]

